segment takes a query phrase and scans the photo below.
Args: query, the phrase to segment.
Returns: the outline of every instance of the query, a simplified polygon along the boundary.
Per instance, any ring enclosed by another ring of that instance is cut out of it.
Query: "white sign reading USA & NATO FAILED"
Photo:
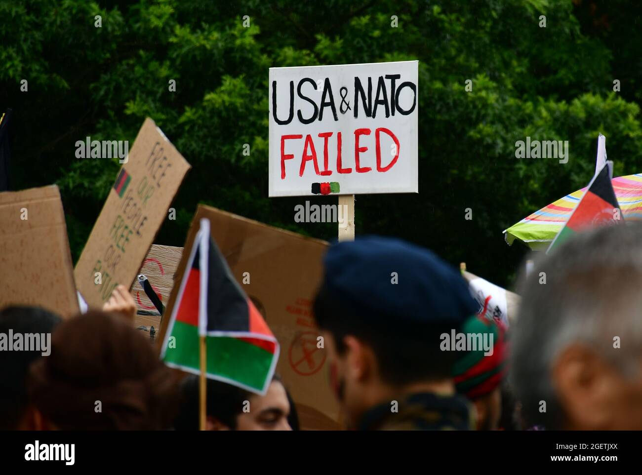
[[[270,196],[417,193],[418,65],[270,68]]]

